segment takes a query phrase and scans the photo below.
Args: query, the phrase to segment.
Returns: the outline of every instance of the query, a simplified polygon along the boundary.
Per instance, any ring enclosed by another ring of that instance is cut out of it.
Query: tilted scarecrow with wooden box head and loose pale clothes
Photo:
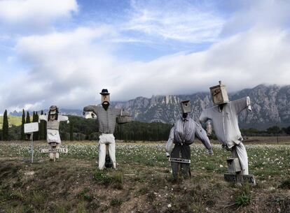
[[[232,152],[233,157],[239,159],[242,175],[249,175],[248,156],[242,143],[238,115],[245,109],[251,111],[250,98],[247,96],[229,101],[226,86],[221,85],[221,81],[219,85],[210,87],[210,90],[214,106],[202,111],[200,122],[212,121],[216,138],[224,148]]]

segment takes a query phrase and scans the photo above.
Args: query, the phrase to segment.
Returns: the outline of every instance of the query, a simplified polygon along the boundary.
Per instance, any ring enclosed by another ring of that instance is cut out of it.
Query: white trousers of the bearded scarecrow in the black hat
[[[113,168],[116,168],[116,145],[113,134],[99,135],[99,170],[104,169],[106,161],[106,145],[109,145],[109,156],[113,162]]]

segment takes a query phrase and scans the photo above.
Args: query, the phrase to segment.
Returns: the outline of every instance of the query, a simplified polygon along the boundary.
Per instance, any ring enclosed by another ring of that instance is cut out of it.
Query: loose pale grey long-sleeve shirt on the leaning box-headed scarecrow
[[[219,109],[219,105],[215,105],[212,108],[207,108],[202,111],[200,122],[207,122],[208,119],[211,119],[216,138],[223,145],[231,148],[234,145],[240,144],[242,141],[242,135],[238,125],[238,115],[246,108],[250,110],[250,104],[250,98],[247,96],[226,103],[222,110]]]

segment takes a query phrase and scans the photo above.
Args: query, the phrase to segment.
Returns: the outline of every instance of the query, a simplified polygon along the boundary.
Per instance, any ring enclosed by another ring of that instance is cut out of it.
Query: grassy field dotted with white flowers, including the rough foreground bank
[[[97,170],[95,142],[63,142],[48,161],[36,142],[0,144],[0,212],[290,212],[290,145],[246,145],[256,186],[223,181],[230,152],[192,145],[191,179],[172,182],[163,143],[117,142],[118,170]]]

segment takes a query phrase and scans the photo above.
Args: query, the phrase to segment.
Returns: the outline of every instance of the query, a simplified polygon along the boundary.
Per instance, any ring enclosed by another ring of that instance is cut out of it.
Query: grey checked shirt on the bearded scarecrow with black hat
[[[97,115],[97,122],[99,124],[100,133],[114,133],[116,126],[116,117],[121,113],[121,109],[109,108],[104,110],[100,105],[88,105],[83,108],[84,112],[94,112]],[[123,115],[128,115],[127,112],[123,112]]]

